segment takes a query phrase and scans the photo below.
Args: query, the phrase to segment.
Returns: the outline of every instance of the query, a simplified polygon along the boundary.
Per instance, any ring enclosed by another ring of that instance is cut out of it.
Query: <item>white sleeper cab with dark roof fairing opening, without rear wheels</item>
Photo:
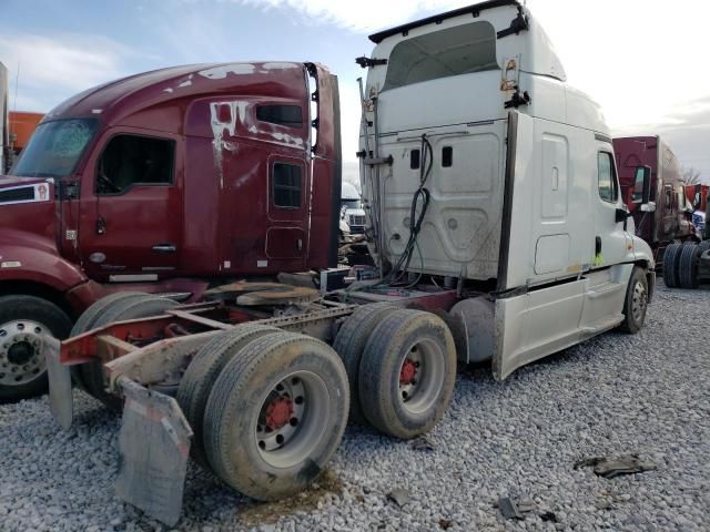
[[[491,359],[497,379],[638,330],[653,255],[633,236],[601,110],[566,83],[530,12],[489,1],[371,40],[361,178],[383,269],[471,289],[453,313],[468,360]]]

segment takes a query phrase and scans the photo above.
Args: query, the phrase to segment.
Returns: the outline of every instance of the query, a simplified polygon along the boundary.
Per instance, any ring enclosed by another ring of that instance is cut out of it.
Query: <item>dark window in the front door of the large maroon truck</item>
[[[133,185],[172,184],[174,154],[173,141],[114,136],[99,160],[97,194],[123,194]]]

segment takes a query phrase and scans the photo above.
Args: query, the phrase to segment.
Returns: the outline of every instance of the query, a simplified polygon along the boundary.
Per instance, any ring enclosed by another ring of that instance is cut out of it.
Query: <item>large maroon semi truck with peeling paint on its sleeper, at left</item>
[[[0,177],[0,400],[45,390],[41,335],[103,296],[335,265],[338,116],[314,63],[163,69],[51,111]]]

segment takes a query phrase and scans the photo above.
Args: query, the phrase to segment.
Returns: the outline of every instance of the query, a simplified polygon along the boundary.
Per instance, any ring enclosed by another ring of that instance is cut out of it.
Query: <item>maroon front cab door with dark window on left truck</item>
[[[82,265],[103,282],[151,282],[180,260],[178,137],[111,130],[82,176]]]

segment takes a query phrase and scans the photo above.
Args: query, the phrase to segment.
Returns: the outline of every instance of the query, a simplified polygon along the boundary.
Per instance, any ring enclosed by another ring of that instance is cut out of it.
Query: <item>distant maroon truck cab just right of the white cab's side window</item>
[[[636,234],[660,250],[674,241],[693,239],[692,206],[686,198],[680,164],[659,136],[613,140],[619,182],[625,203],[636,223]],[[642,212],[643,183],[650,175],[651,211]]]

